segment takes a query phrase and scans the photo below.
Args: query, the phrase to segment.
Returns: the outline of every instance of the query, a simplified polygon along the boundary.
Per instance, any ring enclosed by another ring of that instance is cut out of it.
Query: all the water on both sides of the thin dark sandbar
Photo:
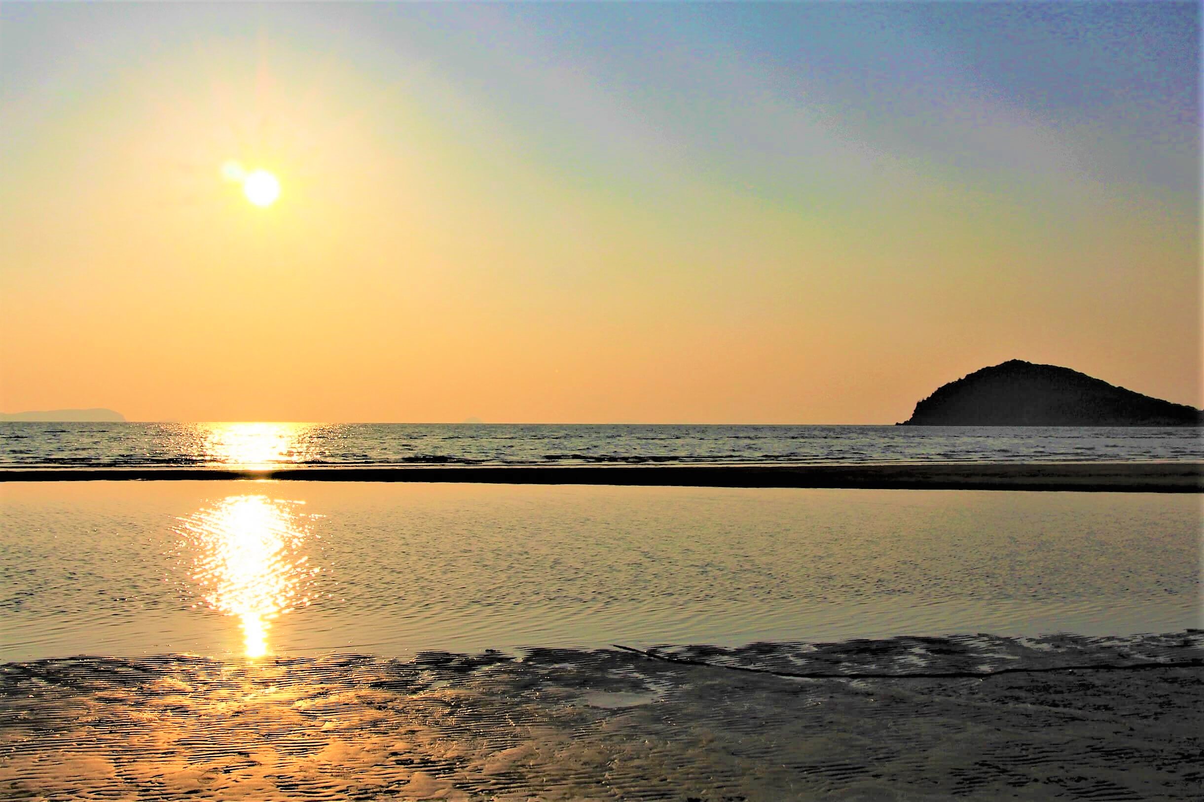
[[[193,480],[206,468],[1204,461],[1200,434],[0,423],[0,658],[1169,631],[1198,623],[1192,494]],[[22,469],[147,467],[191,470],[20,481]]]

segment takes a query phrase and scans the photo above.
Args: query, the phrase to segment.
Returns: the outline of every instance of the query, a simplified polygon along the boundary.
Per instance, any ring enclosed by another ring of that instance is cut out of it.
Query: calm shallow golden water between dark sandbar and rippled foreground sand
[[[0,483],[0,661],[1199,624],[1188,494]]]

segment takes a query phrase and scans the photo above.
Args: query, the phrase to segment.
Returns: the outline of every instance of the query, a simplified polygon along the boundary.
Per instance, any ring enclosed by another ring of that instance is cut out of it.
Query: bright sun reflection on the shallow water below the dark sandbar
[[[309,604],[305,594],[320,571],[301,553],[309,533],[297,504],[231,495],[179,519],[177,531],[196,554],[193,580],[205,604],[240,619],[248,658],[267,653],[272,619]]]

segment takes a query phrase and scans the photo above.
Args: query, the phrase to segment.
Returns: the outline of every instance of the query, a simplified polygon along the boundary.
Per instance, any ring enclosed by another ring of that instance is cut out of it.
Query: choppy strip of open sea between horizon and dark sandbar
[[[0,423],[2,468],[1197,459],[1196,428]]]

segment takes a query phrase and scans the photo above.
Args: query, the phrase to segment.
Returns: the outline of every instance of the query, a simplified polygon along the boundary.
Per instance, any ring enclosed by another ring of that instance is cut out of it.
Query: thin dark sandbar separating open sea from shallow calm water
[[[1198,462],[908,463],[869,465],[454,465],[439,468],[2,469],[2,481],[278,479],[340,482],[836,487],[872,489],[1204,492]]]

